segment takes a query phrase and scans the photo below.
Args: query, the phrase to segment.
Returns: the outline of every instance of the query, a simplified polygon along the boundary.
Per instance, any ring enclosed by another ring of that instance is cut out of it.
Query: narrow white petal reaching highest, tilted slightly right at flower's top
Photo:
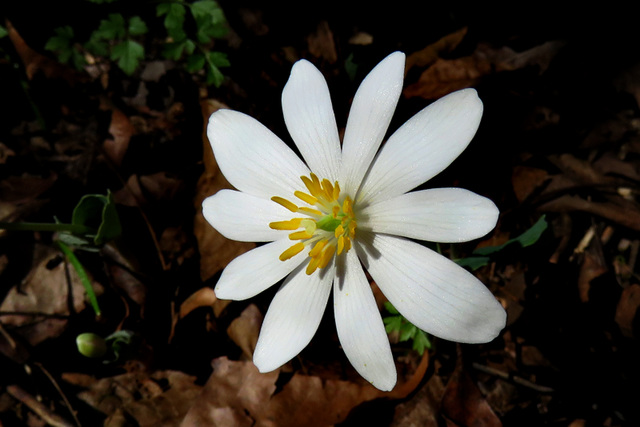
[[[351,104],[342,146],[340,187],[354,195],[391,122],[402,91],[405,55],[395,52],[362,81]]]

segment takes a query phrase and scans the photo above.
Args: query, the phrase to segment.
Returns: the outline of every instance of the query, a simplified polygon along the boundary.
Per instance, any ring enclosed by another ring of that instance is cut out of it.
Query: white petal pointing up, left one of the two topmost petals
[[[331,182],[338,179],[340,136],[322,73],[309,61],[294,64],[282,91],[287,129],[309,168]]]

